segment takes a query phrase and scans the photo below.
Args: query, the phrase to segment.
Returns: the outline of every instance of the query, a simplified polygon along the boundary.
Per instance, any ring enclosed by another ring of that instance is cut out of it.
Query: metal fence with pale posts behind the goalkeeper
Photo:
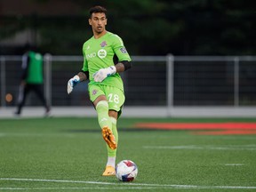
[[[256,107],[255,56],[132,56],[124,80],[129,107]],[[1,107],[16,105],[21,56],[0,56]],[[82,68],[82,56],[44,55],[44,91],[58,106],[92,105],[87,83],[67,94],[67,82]],[[7,100],[6,96],[12,100]],[[27,105],[40,105],[28,98]]]

